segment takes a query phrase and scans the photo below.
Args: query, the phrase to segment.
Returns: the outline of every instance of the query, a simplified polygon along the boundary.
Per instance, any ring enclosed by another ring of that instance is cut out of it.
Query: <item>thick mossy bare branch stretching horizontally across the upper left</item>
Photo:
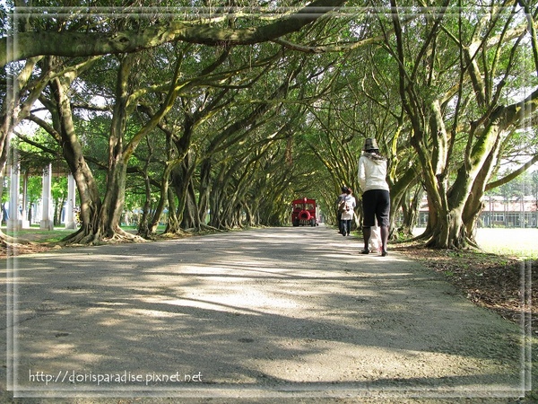
[[[344,2],[345,0],[316,0],[297,13],[276,22],[237,30],[176,21],[161,22],[142,31],[17,32],[0,39],[0,66],[40,55],[83,57],[132,53],[177,41],[210,46],[252,45],[299,31]]]

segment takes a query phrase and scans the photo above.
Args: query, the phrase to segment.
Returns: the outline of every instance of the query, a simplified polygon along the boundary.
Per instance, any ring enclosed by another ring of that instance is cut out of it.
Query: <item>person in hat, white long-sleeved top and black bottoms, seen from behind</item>
[[[377,220],[381,233],[381,255],[386,257],[390,213],[390,194],[386,183],[386,158],[379,154],[376,139],[367,138],[362,150],[359,159],[359,185],[362,189],[364,250],[361,252],[369,254],[371,228],[376,225]]]

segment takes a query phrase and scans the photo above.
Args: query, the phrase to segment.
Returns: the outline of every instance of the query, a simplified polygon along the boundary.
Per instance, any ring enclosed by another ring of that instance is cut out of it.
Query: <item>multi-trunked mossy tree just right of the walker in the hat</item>
[[[462,248],[473,243],[467,224],[473,226],[476,212],[468,204],[482,198],[502,136],[525,121],[521,110],[535,110],[538,92],[507,106],[499,101],[509,83],[517,85],[513,73],[525,25],[514,19],[516,9],[504,13],[493,5],[488,14],[460,11],[454,22],[445,2],[424,13],[416,30],[404,30],[398,4],[391,5],[395,36],[387,49],[398,65],[400,97],[429,198],[424,236],[433,247]],[[473,25],[469,17],[480,20]],[[447,75],[458,81],[445,80]]]

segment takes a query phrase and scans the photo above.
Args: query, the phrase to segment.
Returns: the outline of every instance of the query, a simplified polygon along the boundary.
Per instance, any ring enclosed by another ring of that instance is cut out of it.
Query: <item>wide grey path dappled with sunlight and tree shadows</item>
[[[522,329],[419,264],[360,248],[320,226],[9,260],[0,372],[16,402],[40,403],[490,403],[525,392]]]

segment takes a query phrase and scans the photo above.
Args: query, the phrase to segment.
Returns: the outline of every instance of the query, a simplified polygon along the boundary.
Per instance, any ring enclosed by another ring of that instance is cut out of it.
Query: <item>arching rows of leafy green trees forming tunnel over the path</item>
[[[376,137],[391,216],[411,226],[423,191],[424,237],[461,248],[484,192],[536,162],[530,3],[46,3],[4,19],[0,162],[19,123],[43,129],[18,137],[74,174],[70,242],[133,238],[119,227],[126,192],[143,198],[143,237],[165,210],[167,233],[286,224],[306,195],[330,220],[341,185],[360,195],[361,146]]]

